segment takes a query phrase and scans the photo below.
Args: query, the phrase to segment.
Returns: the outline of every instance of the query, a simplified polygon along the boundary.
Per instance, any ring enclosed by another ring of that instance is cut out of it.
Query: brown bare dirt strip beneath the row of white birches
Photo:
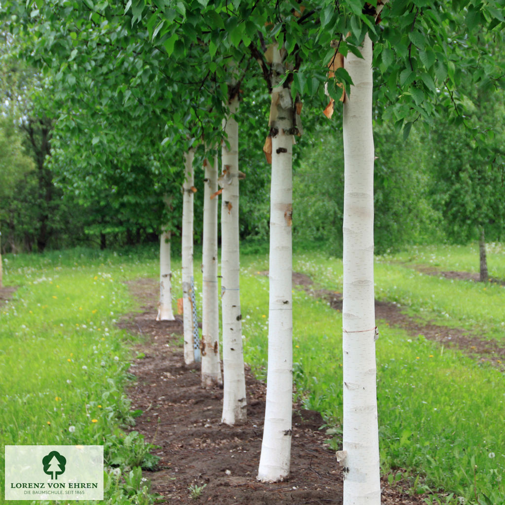
[[[305,276],[306,277],[306,276]],[[334,452],[325,444],[321,416],[294,405],[291,474],[277,484],[256,481],[263,434],[266,387],[246,372],[247,423],[220,424],[221,389],[202,389],[198,371],[182,363],[182,321],[156,322],[157,282],[132,282],[143,313],[130,315],[120,326],[144,335],[130,372],[137,377],[129,395],[143,410],[135,429],[160,448],[157,472],[145,472],[163,503],[220,505],[305,505],[342,502],[342,473]],[[189,486],[206,487],[196,500]],[[423,496],[409,496],[382,480],[382,503],[421,505]]]

